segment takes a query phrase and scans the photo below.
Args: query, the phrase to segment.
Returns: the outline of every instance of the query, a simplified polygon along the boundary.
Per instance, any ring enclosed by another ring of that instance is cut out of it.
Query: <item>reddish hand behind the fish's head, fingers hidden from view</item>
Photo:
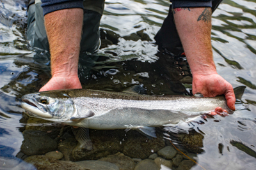
[[[51,80],[39,92],[60,89],[82,89],[78,76],[52,76]]]

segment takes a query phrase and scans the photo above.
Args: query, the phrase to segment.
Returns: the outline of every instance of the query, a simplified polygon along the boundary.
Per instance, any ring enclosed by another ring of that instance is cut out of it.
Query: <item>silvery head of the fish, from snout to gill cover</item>
[[[76,113],[75,104],[64,92],[52,90],[22,96],[20,106],[35,117],[45,120],[67,120]]]

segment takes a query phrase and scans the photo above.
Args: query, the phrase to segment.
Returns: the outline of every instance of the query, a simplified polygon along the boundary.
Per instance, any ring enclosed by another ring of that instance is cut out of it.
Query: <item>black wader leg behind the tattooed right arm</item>
[[[221,1],[222,0],[212,1],[212,12],[216,10]],[[172,4],[170,5],[168,16],[164,19],[163,25],[157,32],[155,39],[159,50],[168,50],[174,55],[179,55],[184,52],[174,23]]]

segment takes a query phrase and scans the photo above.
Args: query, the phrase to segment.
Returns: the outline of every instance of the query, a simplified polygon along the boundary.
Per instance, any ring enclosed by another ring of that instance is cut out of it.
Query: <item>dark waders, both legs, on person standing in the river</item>
[[[212,0],[212,12],[216,10],[222,0]],[[44,15],[40,0],[29,2],[28,8],[28,40],[31,46],[49,51],[49,43],[44,27]],[[93,53],[100,46],[99,25],[104,10],[104,0],[84,0],[84,24],[81,39],[81,53],[79,63],[87,69],[93,66],[96,56],[86,55],[86,52]],[[168,50],[175,55],[183,52],[179,35],[177,33],[172,13],[172,5],[168,16],[164,19],[161,29],[156,34],[156,44],[159,50]],[[42,59],[42,56],[41,56]]]

